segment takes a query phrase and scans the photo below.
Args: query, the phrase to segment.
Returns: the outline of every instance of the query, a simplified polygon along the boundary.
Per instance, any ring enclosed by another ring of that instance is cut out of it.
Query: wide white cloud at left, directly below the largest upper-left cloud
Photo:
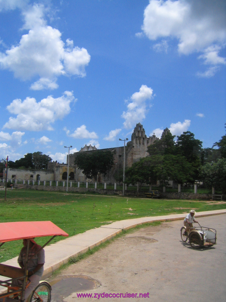
[[[15,99],[7,106],[7,110],[16,117],[10,117],[4,128],[30,131],[53,130],[52,124],[70,113],[70,103],[73,100],[73,92],[68,91],[59,98],[49,95],[40,102],[30,97],[24,101]]]

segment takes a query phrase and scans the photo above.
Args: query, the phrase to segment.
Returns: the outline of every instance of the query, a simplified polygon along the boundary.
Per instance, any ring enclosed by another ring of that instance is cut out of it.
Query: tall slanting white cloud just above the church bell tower
[[[146,113],[148,112],[146,101],[152,98],[153,90],[147,87],[147,85],[142,85],[139,92],[133,93],[130,100],[127,101],[127,111],[123,112],[121,115],[125,119],[123,125],[126,129],[130,129],[137,124],[142,122]]]

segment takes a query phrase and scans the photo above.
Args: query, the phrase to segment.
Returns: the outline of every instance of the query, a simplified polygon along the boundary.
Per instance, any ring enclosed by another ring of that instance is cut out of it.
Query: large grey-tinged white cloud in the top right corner
[[[177,39],[178,52],[201,53],[198,59],[213,66],[225,65],[220,52],[226,44],[226,2],[212,0],[149,0],[142,30],[150,40]],[[154,46],[157,50],[160,43]],[[212,72],[199,76],[213,76]]]

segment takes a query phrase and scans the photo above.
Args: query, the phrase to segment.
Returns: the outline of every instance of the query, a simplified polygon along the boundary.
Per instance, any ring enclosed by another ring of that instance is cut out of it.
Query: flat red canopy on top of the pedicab
[[[18,221],[0,223],[0,243],[44,236],[69,236],[51,221]]]

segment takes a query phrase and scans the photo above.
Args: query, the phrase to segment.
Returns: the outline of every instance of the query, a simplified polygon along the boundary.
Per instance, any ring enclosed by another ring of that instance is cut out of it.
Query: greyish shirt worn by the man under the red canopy
[[[27,247],[24,246],[20,251],[20,255],[18,257],[18,263],[23,262],[23,265],[25,265],[26,251],[27,251]],[[31,257],[32,259],[30,259]],[[27,269],[28,271],[33,271],[38,264],[45,263],[44,249],[42,249],[42,247],[39,246],[38,244],[34,243],[33,246],[28,251],[28,259],[30,260],[28,261]],[[36,271],[34,275],[42,276],[43,270],[44,268],[42,266],[42,268]]]

